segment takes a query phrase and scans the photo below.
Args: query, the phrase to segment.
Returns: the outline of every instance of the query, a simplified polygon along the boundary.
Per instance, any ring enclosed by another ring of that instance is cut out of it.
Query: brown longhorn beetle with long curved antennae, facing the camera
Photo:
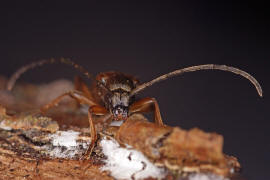
[[[169,72],[149,82],[140,84],[135,77],[121,72],[103,72],[99,73],[96,78],[94,78],[82,66],[65,58],[41,60],[21,67],[9,79],[7,89],[12,90],[16,80],[27,70],[37,66],[42,66],[44,64],[53,64],[57,62],[68,64],[78,69],[87,78],[93,80],[93,85],[92,87],[88,88],[88,86],[82,82],[81,79],[77,78],[75,80],[74,91],[66,92],[60,95],[47,105],[41,107],[41,111],[46,112],[49,108],[57,105],[65,96],[70,96],[76,99],[79,103],[89,106],[88,119],[90,125],[91,144],[85,153],[86,157],[91,155],[94,144],[97,140],[97,133],[93,123],[93,115],[103,115],[104,120],[113,118],[115,121],[120,121],[126,120],[133,113],[153,112],[155,123],[162,126],[163,122],[157,101],[154,98],[149,97],[135,101],[135,95],[145,88],[152,86],[157,82],[166,80],[170,77],[177,76],[185,72],[193,72],[198,70],[228,71],[248,79],[251,83],[253,83],[257,89],[258,94],[262,97],[261,86],[254,77],[245,71],[226,65],[205,64],[191,66]]]

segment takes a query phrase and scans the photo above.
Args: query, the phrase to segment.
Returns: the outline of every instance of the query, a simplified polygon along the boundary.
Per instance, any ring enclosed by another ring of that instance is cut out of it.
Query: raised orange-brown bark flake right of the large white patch
[[[140,114],[131,116],[116,134],[122,144],[143,152],[153,162],[179,173],[211,172],[231,176],[240,169],[237,159],[223,154],[223,137],[198,128],[161,127]]]

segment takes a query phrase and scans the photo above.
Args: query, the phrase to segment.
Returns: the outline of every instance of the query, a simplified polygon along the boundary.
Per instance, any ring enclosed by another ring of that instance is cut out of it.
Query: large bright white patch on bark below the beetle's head
[[[102,171],[110,171],[116,179],[162,179],[166,171],[151,163],[141,152],[120,147],[115,140],[102,139],[103,153],[107,156]]]

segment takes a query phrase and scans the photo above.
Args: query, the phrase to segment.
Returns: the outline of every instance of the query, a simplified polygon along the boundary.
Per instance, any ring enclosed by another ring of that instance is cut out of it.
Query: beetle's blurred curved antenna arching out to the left
[[[14,87],[16,81],[20,78],[20,76],[25,73],[26,71],[33,69],[35,67],[38,66],[43,66],[45,64],[54,64],[54,63],[63,63],[63,64],[67,64],[70,65],[72,67],[74,67],[75,69],[78,69],[80,72],[82,72],[87,78],[95,80],[93,78],[93,76],[86,70],[84,69],[82,66],[74,63],[73,61],[71,61],[70,59],[67,58],[60,58],[60,59],[43,59],[40,61],[36,61],[36,62],[32,62],[28,65],[25,65],[21,68],[19,68],[10,78],[9,81],[7,82],[7,90],[11,91],[12,88]]]

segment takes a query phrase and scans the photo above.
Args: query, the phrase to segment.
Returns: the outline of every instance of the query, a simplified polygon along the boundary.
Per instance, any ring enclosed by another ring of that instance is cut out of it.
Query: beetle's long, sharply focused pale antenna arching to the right
[[[240,69],[237,69],[235,67],[230,67],[230,66],[226,66],[226,65],[204,64],[204,65],[190,66],[187,68],[178,69],[178,70],[172,71],[170,73],[164,74],[162,76],[159,76],[159,77],[157,77],[149,82],[143,83],[143,84],[139,85],[138,87],[136,87],[135,89],[133,89],[130,93],[130,96],[133,96],[133,95],[137,94],[138,92],[144,90],[145,88],[152,86],[153,84],[155,84],[157,82],[164,81],[170,77],[177,76],[177,75],[183,74],[185,72],[193,72],[193,71],[199,71],[199,70],[221,70],[221,71],[228,71],[228,72],[232,72],[234,74],[238,74],[238,75],[243,76],[246,79],[248,79],[255,86],[258,94],[261,97],[263,95],[262,88],[261,88],[260,84],[258,83],[258,81],[253,76],[248,74],[247,72],[242,71]]]

